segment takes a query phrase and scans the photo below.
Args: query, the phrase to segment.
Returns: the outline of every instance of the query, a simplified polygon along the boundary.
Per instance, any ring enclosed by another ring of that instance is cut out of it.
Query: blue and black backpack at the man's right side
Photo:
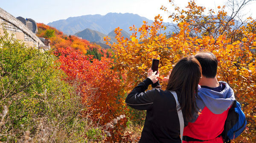
[[[247,122],[244,112],[238,101],[234,101],[232,107],[228,111],[225,121],[224,130],[221,133],[224,143],[230,143],[230,140],[238,137],[245,129]]]

